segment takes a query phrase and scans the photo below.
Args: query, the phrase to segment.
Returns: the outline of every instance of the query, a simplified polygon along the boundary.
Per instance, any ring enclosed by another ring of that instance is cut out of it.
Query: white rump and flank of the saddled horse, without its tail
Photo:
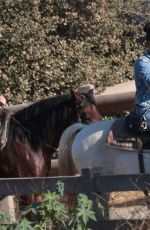
[[[106,145],[114,120],[100,121],[82,129],[72,145],[72,157],[79,172],[83,168],[99,168],[103,175],[140,172],[138,152]],[[150,172],[150,154],[144,153],[145,172]]]

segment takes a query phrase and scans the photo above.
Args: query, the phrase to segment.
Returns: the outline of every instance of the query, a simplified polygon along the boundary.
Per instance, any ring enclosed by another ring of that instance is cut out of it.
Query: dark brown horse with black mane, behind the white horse
[[[39,100],[14,113],[7,143],[0,151],[0,177],[44,177],[50,175],[52,154],[63,131],[75,122],[99,120],[93,90]],[[39,200],[22,197],[23,204]]]

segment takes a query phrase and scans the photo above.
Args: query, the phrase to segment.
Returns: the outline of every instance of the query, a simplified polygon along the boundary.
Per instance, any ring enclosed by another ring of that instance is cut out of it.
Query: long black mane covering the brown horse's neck
[[[68,117],[75,119],[75,108],[70,94],[37,101],[12,116],[9,134],[12,138],[27,138],[34,146],[41,141],[49,142],[64,129],[65,122],[71,123]]]

